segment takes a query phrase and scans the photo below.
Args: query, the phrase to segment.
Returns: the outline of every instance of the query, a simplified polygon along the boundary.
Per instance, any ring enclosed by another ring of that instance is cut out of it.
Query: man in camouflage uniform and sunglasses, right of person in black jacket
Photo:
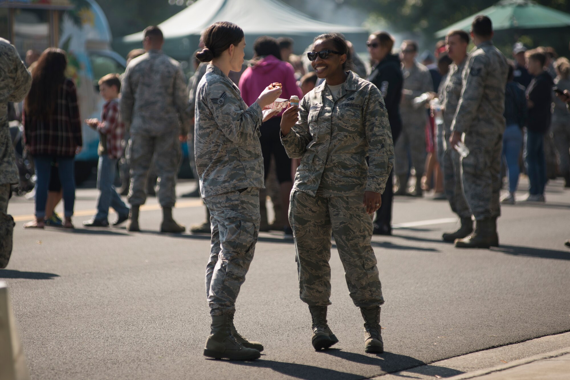
[[[433,91],[433,81],[427,67],[416,62],[418,44],[415,41],[402,42],[402,103],[400,115],[402,116],[402,132],[396,143],[396,165],[394,171],[398,176],[400,185],[396,195],[404,195],[408,183],[409,163],[408,151],[412,159],[411,165],[416,169],[416,195],[422,195],[420,179],[424,173],[426,160],[425,127],[427,112],[424,102],[413,104],[414,98],[425,92]]]

